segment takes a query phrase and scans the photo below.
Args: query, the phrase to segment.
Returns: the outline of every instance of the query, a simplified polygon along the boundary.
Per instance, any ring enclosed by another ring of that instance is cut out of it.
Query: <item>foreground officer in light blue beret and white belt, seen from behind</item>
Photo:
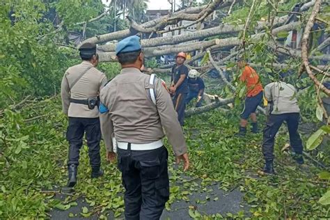
[[[189,167],[171,96],[161,80],[140,71],[144,57],[139,40],[138,36],[130,36],[118,42],[116,56],[122,70],[100,94],[107,159],[115,157],[116,140],[127,220],[159,219],[168,201],[168,151],[162,142],[163,127],[178,162],[184,160],[184,171]]]

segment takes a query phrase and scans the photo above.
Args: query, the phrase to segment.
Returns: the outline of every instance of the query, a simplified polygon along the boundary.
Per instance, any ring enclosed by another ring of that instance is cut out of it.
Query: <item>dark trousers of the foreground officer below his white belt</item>
[[[125,187],[125,219],[159,219],[169,198],[168,152],[118,148],[118,168]]]

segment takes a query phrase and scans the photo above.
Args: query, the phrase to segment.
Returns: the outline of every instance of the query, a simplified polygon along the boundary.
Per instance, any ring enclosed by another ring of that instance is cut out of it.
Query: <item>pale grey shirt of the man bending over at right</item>
[[[296,89],[291,84],[275,81],[265,86],[265,97],[272,103],[272,114],[299,113],[300,109],[296,96]],[[270,104],[268,104],[268,107]],[[270,110],[268,109],[268,112]]]

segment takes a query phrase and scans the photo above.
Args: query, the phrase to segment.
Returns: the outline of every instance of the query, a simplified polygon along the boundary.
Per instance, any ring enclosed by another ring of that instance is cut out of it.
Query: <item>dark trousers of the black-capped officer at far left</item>
[[[89,162],[92,168],[101,165],[100,140],[101,128],[99,118],[73,118],[69,117],[68,132],[66,138],[69,141],[68,165],[79,165],[79,152],[83,145],[83,138],[86,132]]]

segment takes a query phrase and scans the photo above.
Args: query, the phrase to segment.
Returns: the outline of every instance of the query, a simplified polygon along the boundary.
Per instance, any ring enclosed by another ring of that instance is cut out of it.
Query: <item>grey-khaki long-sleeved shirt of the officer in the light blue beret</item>
[[[137,68],[124,68],[100,93],[100,100],[109,112],[100,114],[101,130],[107,151],[112,151],[111,137],[128,143],[152,143],[164,137],[173,146],[175,155],[187,152],[178,114],[162,81],[149,84],[150,75]],[[155,88],[156,104],[148,96]]]

